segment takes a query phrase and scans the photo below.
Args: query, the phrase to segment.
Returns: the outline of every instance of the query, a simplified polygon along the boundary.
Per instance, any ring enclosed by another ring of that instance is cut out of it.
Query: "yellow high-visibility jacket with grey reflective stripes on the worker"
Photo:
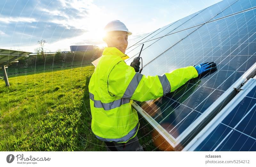
[[[117,48],[106,47],[90,79],[92,132],[103,141],[126,143],[136,136],[140,124],[132,100],[159,98],[198,76],[193,66],[145,76],[127,65],[127,58]]]

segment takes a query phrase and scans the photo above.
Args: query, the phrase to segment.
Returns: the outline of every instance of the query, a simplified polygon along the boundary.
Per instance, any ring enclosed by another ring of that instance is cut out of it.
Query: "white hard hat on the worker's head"
[[[124,25],[123,22],[121,22],[120,20],[113,20],[110,21],[104,28],[105,32],[109,32],[109,31],[125,31],[128,33],[129,35],[132,35],[132,33],[130,31],[128,31],[128,28],[126,28],[126,26]]]

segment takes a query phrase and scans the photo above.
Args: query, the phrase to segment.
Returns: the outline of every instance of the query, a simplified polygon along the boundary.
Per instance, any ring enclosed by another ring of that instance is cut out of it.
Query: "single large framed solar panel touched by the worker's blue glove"
[[[148,52],[142,51],[142,74],[146,76],[161,76],[202,62],[217,64],[218,70],[192,79],[164,97],[133,103],[174,150],[183,148],[236,95],[231,85],[239,85],[252,75],[248,70],[256,68],[255,13],[246,10],[195,27],[178,43],[169,48],[166,45],[168,49],[160,54],[160,45],[152,44]]]

